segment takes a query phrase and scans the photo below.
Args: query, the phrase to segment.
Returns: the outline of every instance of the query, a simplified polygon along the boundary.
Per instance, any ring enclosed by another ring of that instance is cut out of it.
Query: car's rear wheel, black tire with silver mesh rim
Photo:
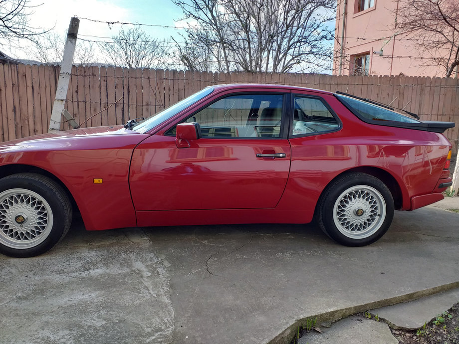
[[[394,217],[394,199],[380,179],[361,172],[343,174],[323,191],[317,207],[320,228],[345,246],[380,239]]]

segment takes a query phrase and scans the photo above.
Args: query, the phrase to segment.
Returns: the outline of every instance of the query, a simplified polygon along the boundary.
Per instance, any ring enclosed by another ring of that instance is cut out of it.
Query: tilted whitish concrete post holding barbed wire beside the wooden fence
[[[64,110],[65,98],[67,97],[68,83],[73,65],[73,55],[75,53],[76,38],[80,19],[72,17],[68,25],[67,41],[64,47],[64,56],[60,65],[59,81],[57,82],[56,97],[52,106],[51,120],[49,121],[48,133],[60,130],[62,111]]]

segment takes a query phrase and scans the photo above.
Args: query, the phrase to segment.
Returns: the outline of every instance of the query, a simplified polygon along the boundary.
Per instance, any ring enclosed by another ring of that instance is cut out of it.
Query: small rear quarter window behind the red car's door
[[[295,96],[293,104],[293,136],[333,131],[340,126],[321,99]]]

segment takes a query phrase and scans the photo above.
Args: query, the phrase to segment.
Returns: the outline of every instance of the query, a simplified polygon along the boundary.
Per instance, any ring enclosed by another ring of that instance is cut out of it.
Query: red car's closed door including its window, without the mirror
[[[175,126],[143,141],[131,163],[136,211],[274,208],[290,168],[286,99],[225,94],[178,121],[200,124],[190,147],[177,147]]]

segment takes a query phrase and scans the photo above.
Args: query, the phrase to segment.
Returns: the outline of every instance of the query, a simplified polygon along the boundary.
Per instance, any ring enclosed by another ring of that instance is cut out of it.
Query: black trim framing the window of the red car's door
[[[187,115],[184,119],[181,119],[179,122],[176,122],[174,123],[171,127],[167,128],[164,132],[164,136],[169,136],[169,137],[175,137],[174,134],[171,134],[170,132],[180,123],[184,123],[188,118],[190,117],[193,117],[194,115],[196,115],[198,112],[204,110],[205,108],[207,108],[209,105],[211,104],[214,104],[216,102],[218,102],[219,100],[222,100],[224,98],[227,98],[227,97],[232,97],[232,96],[239,96],[239,95],[250,95],[250,94],[253,94],[253,95],[263,95],[263,94],[273,94],[273,95],[281,95],[282,96],[282,119],[281,119],[281,122],[280,122],[280,131],[279,131],[279,137],[230,137],[230,136],[203,136],[201,139],[218,139],[218,140],[279,140],[279,139],[282,139],[282,140],[285,140],[288,138],[288,129],[286,127],[289,126],[288,122],[285,123],[287,120],[288,120],[288,115],[287,115],[287,110],[288,108],[290,107],[290,97],[289,95],[291,94],[290,93],[291,91],[272,91],[272,92],[269,92],[269,91],[261,91],[261,92],[258,92],[258,91],[240,91],[240,92],[234,92],[234,93],[227,93],[227,94],[224,94],[216,99],[214,99],[211,103],[207,103],[206,105],[200,107],[199,109],[197,109],[196,111],[193,111],[191,115]],[[287,107],[288,106],[288,107]]]

